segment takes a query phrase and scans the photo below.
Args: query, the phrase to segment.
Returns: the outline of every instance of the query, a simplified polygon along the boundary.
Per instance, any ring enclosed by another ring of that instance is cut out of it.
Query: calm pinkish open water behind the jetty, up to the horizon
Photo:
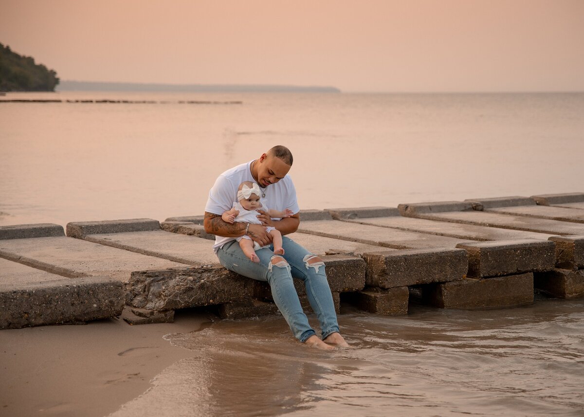
[[[158,103],[0,103],[0,225],[203,214],[219,173],[274,144],[303,209],[584,192],[582,93],[6,99],[36,97]]]

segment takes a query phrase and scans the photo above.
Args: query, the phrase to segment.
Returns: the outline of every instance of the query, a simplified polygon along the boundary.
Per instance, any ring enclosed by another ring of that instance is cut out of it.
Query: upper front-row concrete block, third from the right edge
[[[433,282],[457,281],[467,273],[463,249],[411,249],[364,253],[366,284],[371,287],[406,287]]]

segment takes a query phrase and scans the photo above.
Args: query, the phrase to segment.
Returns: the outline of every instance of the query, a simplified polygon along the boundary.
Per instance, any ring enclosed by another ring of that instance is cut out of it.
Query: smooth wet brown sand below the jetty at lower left
[[[121,319],[0,332],[0,416],[106,416],[151,387],[166,367],[192,356],[163,339],[209,322],[196,310],[173,324]]]

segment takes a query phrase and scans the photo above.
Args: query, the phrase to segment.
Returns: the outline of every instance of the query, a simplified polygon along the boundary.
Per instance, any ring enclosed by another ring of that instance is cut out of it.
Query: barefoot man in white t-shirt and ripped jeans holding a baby
[[[335,349],[334,346],[347,347],[349,345],[339,333],[324,262],[285,236],[295,232],[300,224],[296,189],[288,176],[292,162],[290,150],[278,145],[258,159],[222,173],[209,192],[205,207],[205,231],[215,235],[213,249],[221,265],[243,276],[270,284],[277,307],[300,342],[325,350]],[[272,219],[266,211],[258,210],[258,219],[262,224],[230,224],[221,220],[221,214],[231,209],[238,186],[244,181],[253,181],[259,185],[262,201],[268,209],[290,209],[293,216]],[[283,255],[274,255],[272,238],[266,233],[268,226],[275,227],[283,235]],[[235,237],[245,234],[260,246],[266,246],[256,251],[259,263],[247,258],[235,241]],[[292,276],[304,281],[308,301],[321,325],[322,340],[308,324]]]

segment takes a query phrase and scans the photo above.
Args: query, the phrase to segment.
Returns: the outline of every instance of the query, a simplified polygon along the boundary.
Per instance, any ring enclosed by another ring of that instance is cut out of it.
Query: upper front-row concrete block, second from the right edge
[[[468,276],[495,277],[523,272],[548,271],[555,264],[551,241],[517,239],[456,245],[468,252]]]

